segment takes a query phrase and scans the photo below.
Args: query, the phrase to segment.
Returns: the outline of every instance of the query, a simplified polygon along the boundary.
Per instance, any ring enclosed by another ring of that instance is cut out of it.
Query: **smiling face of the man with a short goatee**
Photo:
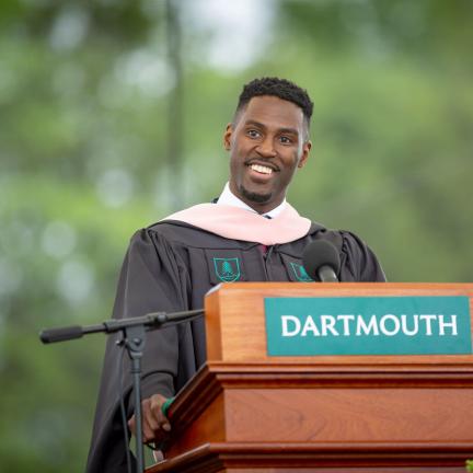
[[[230,151],[230,189],[259,214],[276,208],[311,142],[302,109],[292,102],[263,95],[229,124],[223,143]]]

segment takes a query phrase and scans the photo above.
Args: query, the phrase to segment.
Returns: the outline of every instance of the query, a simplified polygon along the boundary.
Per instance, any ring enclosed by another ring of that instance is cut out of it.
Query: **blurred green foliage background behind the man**
[[[132,232],[218,196],[242,84],[315,103],[301,214],[392,281],[471,281],[471,0],[2,0],[0,470],[82,472]]]

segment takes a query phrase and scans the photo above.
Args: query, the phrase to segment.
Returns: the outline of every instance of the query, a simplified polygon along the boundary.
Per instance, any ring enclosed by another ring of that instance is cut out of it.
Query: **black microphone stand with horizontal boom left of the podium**
[[[117,345],[125,347],[131,360],[130,373],[135,397],[137,473],[145,472],[140,378],[146,332],[162,328],[165,324],[172,322],[191,321],[203,313],[204,309],[174,312],[170,314],[165,312],[152,312],[138,318],[109,320],[97,325],[71,325],[60,328],[43,330],[39,333],[41,341],[44,344],[49,344],[54,342],[66,342],[73,338],[81,338],[83,335],[92,333],[103,332],[111,334],[122,332],[122,339],[117,342]]]

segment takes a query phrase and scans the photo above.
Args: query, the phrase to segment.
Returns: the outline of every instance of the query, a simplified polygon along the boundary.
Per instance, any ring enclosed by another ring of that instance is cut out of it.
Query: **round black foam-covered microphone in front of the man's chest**
[[[302,253],[302,265],[307,274],[322,282],[339,282],[339,255],[335,245],[326,240],[314,240]]]

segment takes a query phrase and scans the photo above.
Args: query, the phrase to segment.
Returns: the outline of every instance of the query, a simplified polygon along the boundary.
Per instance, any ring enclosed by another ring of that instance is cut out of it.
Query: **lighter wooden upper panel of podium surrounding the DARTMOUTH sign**
[[[208,361],[268,364],[392,364],[393,357],[269,357],[266,354],[264,298],[347,297],[347,296],[468,296],[473,312],[473,284],[399,282],[238,282],[221,285],[206,298]],[[220,316],[219,316],[220,315]],[[473,323],[472,323],[473,327]],[[449,362],[445,355],[428,357],[396,356],[396,362]],[[451,362],[472,361],[472,356],[451,357]]]

